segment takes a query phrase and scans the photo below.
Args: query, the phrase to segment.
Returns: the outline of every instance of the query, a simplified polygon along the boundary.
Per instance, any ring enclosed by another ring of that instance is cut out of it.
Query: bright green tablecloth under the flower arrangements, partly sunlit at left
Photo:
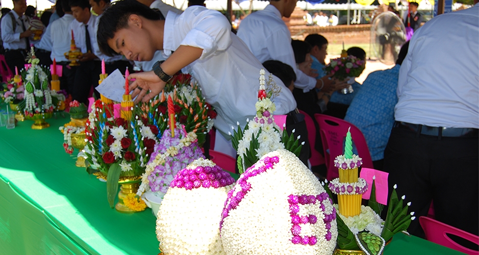
[[[157,254],[151,210],[122,214],[110,209],[106,185],[65,153],[58,127],[49,119],[32,130],[0,127],[1,254]],[[77,151],[75,150],[75,153]],[[417,237],[394,236],[385,254],[458,254]]]

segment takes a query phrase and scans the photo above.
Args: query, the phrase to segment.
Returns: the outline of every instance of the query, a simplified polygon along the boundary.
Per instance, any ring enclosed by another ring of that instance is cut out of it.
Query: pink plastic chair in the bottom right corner
[[[442,246],[446,246],[457,251],[464,252],[466,254],[479,254],[479,251],[471,250],[456,243],[455,241],[451,240],[446,234],[452,234],[464,238],[475,244],[479,244],[478,236],[472,235],[454,226],[449,226],[440,221],[424,216],[419,217],[419,223],[421,224],[422,229],[426,234],[426,239],[428,239],[428,241],[440,244]]]

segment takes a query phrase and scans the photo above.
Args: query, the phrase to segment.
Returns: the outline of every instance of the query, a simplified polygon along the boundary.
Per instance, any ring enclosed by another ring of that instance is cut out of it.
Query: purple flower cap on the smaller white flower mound
[[[170,188],[185,188],[187,190],[203,188],[220,188],[234,183],[233,177],[219,166],[199,166],[195,169],[185,168],[176,174]]]

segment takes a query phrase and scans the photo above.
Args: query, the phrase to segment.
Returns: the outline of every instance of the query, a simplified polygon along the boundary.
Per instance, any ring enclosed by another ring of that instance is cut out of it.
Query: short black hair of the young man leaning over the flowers
[[[150,20],[161,20],[162,17],[148,6],[134,0],[120,0],[107,8],[98,23],[97,41],[101,52],[107,56],[118,55],[110,48],[108,40],[115,37],[118,30],[128,27],[128,18],[136,14]]]

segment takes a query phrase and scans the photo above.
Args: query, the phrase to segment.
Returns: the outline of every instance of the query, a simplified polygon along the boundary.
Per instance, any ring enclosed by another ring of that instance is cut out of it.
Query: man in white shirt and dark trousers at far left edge
[[[13,10],[2,18],[2,41],[5,48],[5,61],[12,72],[15,66],[20,71],[25,64],[25,57],[30,50],[33,31],[28,29],[30,18],[23,15],[26,11],[25,0],[13,1]]]

